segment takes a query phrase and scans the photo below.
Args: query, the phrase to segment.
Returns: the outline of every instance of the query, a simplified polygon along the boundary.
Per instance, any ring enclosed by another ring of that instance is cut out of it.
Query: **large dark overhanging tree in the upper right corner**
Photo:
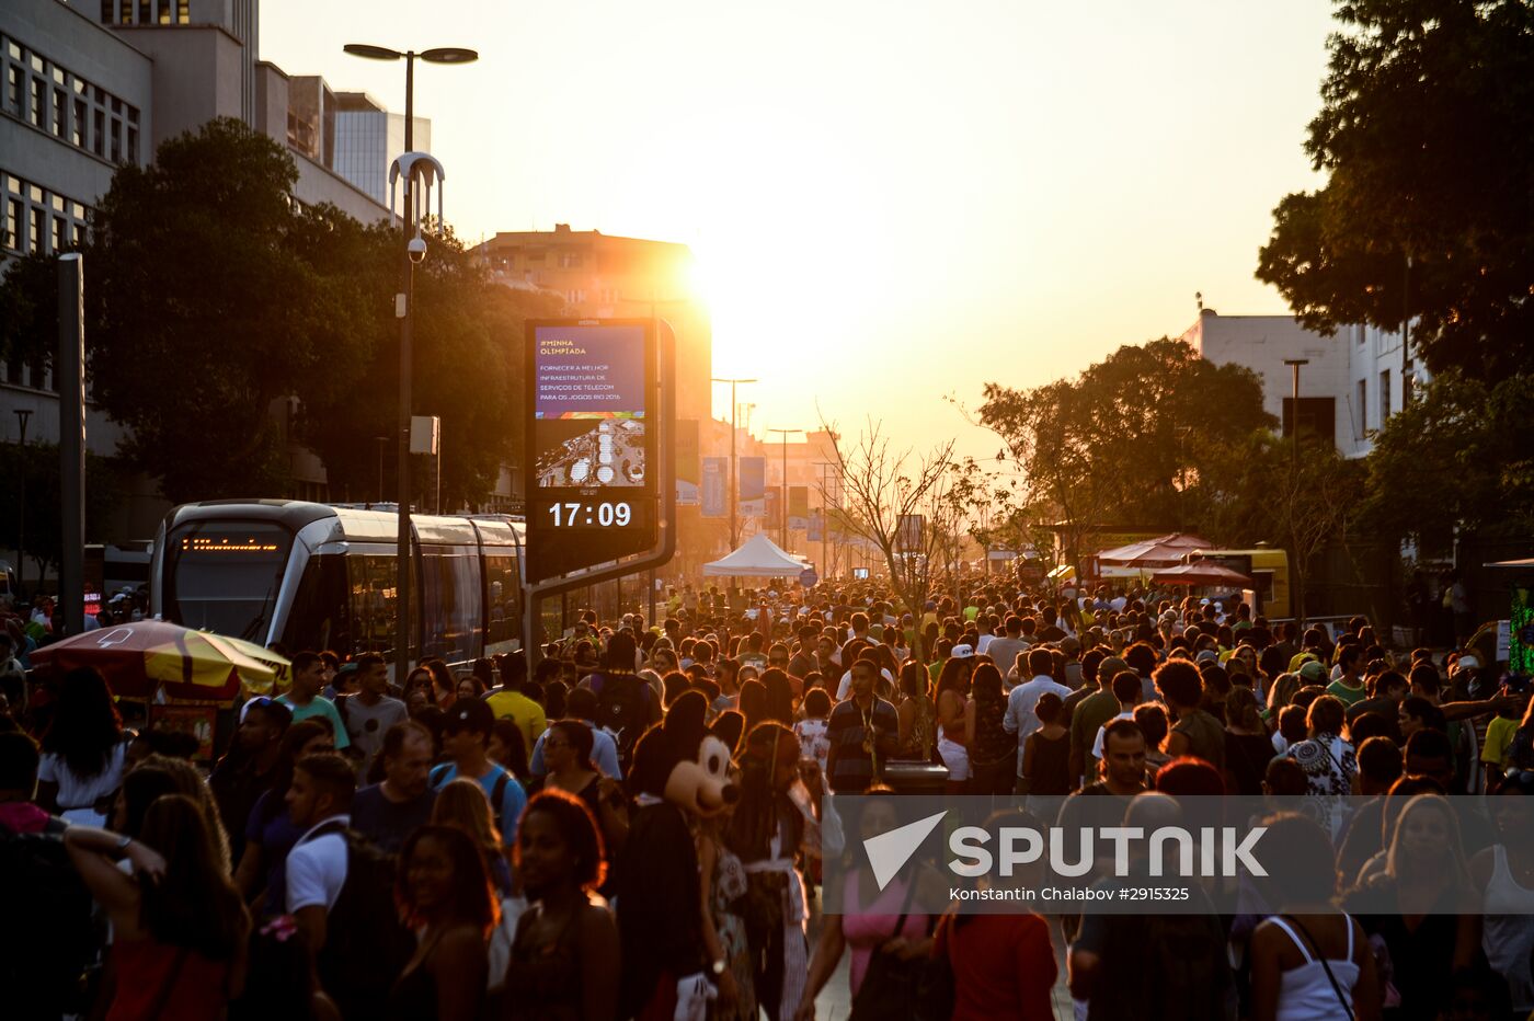
[[[1332,334],[1413,320],[1434,373],[1534,366],[1534,8],[1350,0],[1305,152],[1256,276]],[[1408,268],[1410,267],[1410,268]]]

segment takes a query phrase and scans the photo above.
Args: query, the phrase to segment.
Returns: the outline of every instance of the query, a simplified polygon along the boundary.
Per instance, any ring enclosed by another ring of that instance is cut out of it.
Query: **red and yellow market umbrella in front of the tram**
[[[164,621],[135,621],[72,635],[32,653],[41,673],[80,667],[101,671],[120,698],[147,699],[158,688],[169,698],[225,701],[239,682],[270,685],[273,665],[259,662],[229,639]]]

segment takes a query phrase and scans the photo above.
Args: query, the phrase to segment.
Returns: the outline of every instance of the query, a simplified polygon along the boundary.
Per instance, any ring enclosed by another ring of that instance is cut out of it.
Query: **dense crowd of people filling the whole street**
[[[854,1018],[1052,1018],[1062,980],[1089,1021],[1534,1012],[1523,679],[1362,618],[999,579],[908,612],[877,583],[684,587],[653,625],[583,613],[531,671],[394,684],[376,653],[291,652],[210,771],[126,727],[101,675],[29,673],[48,629],[15,624],[8,1016],[810,1021],[844,960]],[[902,763],[1032,826],[1367,800],[1269,819],[1284,868],[1246,914],[965,915],[937,869],[881,886],[862,857],[902,820]],[[831,825],[827,793],[870,797]]]

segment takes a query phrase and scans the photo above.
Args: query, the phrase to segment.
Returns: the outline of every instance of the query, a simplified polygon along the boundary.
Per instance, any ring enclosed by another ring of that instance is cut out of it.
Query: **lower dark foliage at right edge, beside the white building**
[[[1454,529],[1534,530],[1534,376],[1488,386],[1460,373],[1434,377],[1374,437],[1365,517],[1388,535],[1447,552]]]

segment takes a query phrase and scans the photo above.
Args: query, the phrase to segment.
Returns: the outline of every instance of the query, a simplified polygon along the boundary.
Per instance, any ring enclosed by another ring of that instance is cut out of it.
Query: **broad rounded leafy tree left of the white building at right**
[[[979,423],[1023,472],[1019,503],[1060,524],[1069,563],[1103,524],[1197,526],[1221,451],[1275,425],[1252,371],[1167,337],[1121,346],[1075,380],[986,383]]]

